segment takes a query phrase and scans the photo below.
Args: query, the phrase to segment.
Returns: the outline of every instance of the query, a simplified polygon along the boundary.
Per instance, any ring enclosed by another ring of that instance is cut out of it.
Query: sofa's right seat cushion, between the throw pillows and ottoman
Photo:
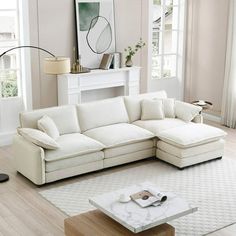
[[[158,136],[161,131],[186,125],[186,122],[175,118],[165,118],[164,120],[138,120],[133,124]]]

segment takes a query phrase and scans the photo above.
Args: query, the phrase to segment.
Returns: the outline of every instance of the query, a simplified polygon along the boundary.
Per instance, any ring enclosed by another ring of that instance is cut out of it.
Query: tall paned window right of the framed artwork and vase
[[[181,0],[153,0],[153,79],[177,77],[181,25],[180,2]]]

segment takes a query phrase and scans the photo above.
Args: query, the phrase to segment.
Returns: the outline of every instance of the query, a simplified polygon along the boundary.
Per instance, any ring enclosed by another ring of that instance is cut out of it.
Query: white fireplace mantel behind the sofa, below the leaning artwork
[[[58,105],[81,103],[82,93],[89,90],[123,87],[122,95],[139,94],[140,69],[140,67],[124,67],[58,75]]]

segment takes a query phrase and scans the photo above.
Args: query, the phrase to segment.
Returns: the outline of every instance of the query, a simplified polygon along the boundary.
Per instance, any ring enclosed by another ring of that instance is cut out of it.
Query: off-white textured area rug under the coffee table
[[[118,171],[117,171],[118,170]],[[94,209],[88,198],[151,181],[198,206],[196,213],[171,221],[176,235],[207,235],[236,222],[236,161],[215,160],[178,170],[158,160],[146,160],[99,172],[97,177],[41,191],[54,206],[73,216]]]

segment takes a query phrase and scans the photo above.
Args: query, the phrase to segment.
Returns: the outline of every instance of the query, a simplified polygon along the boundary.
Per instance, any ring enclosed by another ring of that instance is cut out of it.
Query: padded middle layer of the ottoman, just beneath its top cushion
[[[199,146],[179,148],[160,140],[157,142],[157,148],[178,158],[189,158],[199,154],[224,149],[224,143],[225,141],[223,139],[219,139]]]

